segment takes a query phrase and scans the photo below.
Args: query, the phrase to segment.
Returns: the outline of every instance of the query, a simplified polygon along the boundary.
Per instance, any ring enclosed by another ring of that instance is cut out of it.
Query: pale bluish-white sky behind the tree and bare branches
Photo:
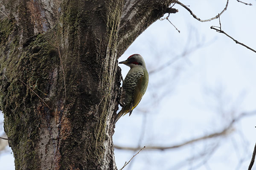
[[[225,0],[182,0],[201,19],[215,17]],[[256,49],[256,0],[247,6],[230,0],[221,28]],[[119,146],[171,146],[219,132],[241,113],[256,111],[256,53],[212,29],[219,20],[201,23],[186,9],[157,20],[119,58],[141,54],[149,85],[131,116],[116,123]],[[125,77],[129,68],[119,65]],[[160,68],[160,69],[159,69]],[[3,116],[2,114],[0,116]],[[256,116],[236,122],[233,133],[173,150],[142,150],[124,170],[244,170],[250,163]],[[118,169],[137,152],[115,149]],[[199,158],[198,158],[199,157]],[[9,148],[0,153],[1,168],[14,170]],[[256,170],[256,166],[254,166]]]

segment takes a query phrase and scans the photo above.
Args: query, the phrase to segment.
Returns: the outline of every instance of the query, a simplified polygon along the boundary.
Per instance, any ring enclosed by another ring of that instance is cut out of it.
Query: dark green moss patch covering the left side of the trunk
[[[10,20],[0,21],[0,108],[4,113],[4,128],[15,156],[17,170],[40,169],[37,144],[41,117],[49,113],[25,82],[41,98],[49,92],[48,74],[53,63],[59,62],[49,35],[31,37],[19,48],[18,27]],[[38,112],[44,110],[43,112]]]

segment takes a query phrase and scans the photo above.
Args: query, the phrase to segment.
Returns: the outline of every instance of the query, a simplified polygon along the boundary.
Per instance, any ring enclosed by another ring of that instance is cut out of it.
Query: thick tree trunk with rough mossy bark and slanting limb
[[[116,169],[117,59],[171,3],[0,0],[0,110],[17,170]]]

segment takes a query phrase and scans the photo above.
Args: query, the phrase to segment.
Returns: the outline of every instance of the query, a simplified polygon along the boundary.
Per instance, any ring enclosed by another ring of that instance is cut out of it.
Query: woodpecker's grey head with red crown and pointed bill
[[[145,61],[140,54],[133,54],[130,57],[128,57],[128,59],[126,59],[125,61],[119,62],[119,64],[125,64],[130,68],[134,68],[134,67],[146,68]]]

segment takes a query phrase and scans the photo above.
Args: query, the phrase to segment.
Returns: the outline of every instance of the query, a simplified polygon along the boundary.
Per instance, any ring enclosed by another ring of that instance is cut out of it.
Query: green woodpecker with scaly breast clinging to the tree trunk
[[[122,110],[116,115],[115,123],[121,116],[131,112],[139,104],[142,96],[148,87],[148,71],[145,61],[140,54],[133,54],[125,61],[119,62],[125,64],[131,69],[123,82],[123,90],[125,91],[125,101]]]

